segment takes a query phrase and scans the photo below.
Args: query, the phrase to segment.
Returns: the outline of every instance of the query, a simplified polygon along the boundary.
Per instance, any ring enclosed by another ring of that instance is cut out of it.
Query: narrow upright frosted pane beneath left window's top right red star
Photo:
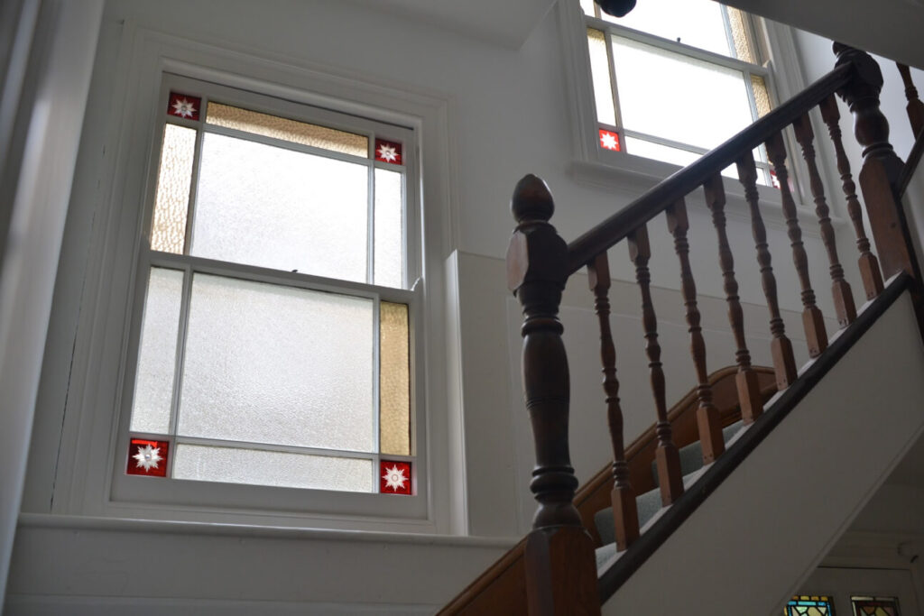
[[[404,186],[395,171],[375,170],[375,284],[404,286]]]

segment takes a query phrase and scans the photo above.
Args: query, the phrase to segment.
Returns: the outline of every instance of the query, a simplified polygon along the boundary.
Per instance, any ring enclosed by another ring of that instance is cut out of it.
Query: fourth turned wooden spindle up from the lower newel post
[[[745,341],[745,317],[738,298],[738,283],[735,280],[735,257],[732,248],[728,245],[728,234],[725,231],[725,187],[722,175],[713,175],[703,185],[706,195],[706,205],[712,212],[712,225],[719,238],[719,266],[722,268],[722,281],[725,298],[728,302],[728,322],[735,335],[737,350],[735,359],[738,364],[738,373],[735,381],[738,390],[738,401],[741,405],[741,418],[747,425],[760,417],[763,404],[760,400],[760,383],[757,372],[751,368],[750,352]]]

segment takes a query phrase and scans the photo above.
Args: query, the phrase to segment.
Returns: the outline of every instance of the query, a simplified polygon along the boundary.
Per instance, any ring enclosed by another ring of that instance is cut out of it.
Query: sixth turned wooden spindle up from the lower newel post
[[[802,230],[799,228],[796,201],[789,191],[789,172],[786,170],[786,148],[783,144],[783,135],[777,133],[767,140],[767,157],[776,172],[776,179],[780,183],[780,193],[783,197],[783,216],[786,220],[786,234],[789,236],[793,248],[793,262],[796,264],[796,273],[802,287],[802,325],[806,331],[808,343],[808,356],[817,357],[821,351],[828,347],[828,333],[824,329],[824,317],[821,310],[815,305],[815,292],[811,288],[808,278],[808,255],[802,245]]]

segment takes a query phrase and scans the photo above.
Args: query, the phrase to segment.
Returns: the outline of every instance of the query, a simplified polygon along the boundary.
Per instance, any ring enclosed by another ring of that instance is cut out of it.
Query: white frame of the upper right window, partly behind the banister
[[[672,163],[664,163],[654,159],[637,156],[630,152],[607,151],[599,146],[596,103],[594,101],[593,81],[590,74],[590,54],[587,45],[588,19],[581,10],[579,0],[565,0],[558,4],[559,26],[562,34],[563,52],[565,54],[565,78],[568,86],[568,96],[574,114],[572,131],[573,161],[569,165],[569,172],[577,181],[597,187],[619,188],[637,190],[640,194],[645,189],[654,186],[658,181],[674,174],[680,167]],[[716,59],[739,63],[734,58],[723,57],[720,54],[699,50],[684,43],[676,43],[654,35],[637,30],[628,29],[602,19],[590,18],[594,22],[606,24],[607,28],[619,30],[620,35],[640,42],[655,43],[669,51],[676,51],[677,45],[685,52],[695,57],[708,56],[709,60]],[[792,97],[806,87],[802,77],[796,53],[796,43],[792,29],[783,24],[770,22],[765,19],[751,16],[751,30],[754,33],[754,46],[765,73],[754,71],[764,77],[767,90],[770,93],[772,105]],[[604,29],[605,31],[605,29]],[[741,63],[750,67],[748,63]],[[740,68],[740,66],[735,66]],[[832,61],[833,67],[833,61]],[[618,113],[618,112],[617,112]],[[622,131],[622,127],[620,127]],[[631,135],[630,135],[631,136]],[[646,138],[650,139],[650,138]],[[799,150],[793,148],[795,139],[791,129],[784,131],[784,140],[787,151],[794,154],[787,159],[790,179],[793,182],[793,196],[799,210],[800,221],[813,220],[812,212],[807,207],[807,196],[799,183],[799,177],[806,173],[805,163]],[[688,147],[688,146],[687,146]],[[726,194],[732,198],[733,205],[744,204],[744,190],[733,178],[723,177]],[[779,191],[773,187],[758,185],[760,203],[765,203],[770,211],[780,213]],[[773,216],[782,220],[782,216]],[[834,218],[833,218],[834,220]],[[841,222],[840,218],[835,221]],[[813,235],[808,231],[809,235]]]

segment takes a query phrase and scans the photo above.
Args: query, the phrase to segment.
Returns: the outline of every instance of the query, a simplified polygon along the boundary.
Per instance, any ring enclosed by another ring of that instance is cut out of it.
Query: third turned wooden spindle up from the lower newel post
[[[709,464],[725,451],[725,441],[722,436],[722,424],[719,422],[719,409],[712,404],[712,386],[709,383],[709,372],[706,369],[706,341],[702,337],[702,327],[699,325],[699,307],[696,299],[696,282],[693,280],[693,270],[690,268],[689,243],[687,231],[687,204],[684,199],[678,199],[667,211],[667,229],[674,236],[674,248],[680,260],[680,287],[684,296],[684,305],[687,307],[687,325],[690,333],[690,355],[693,356],[693,366],[696,368],[697,408],[696,418],[699,428],[699,444],[702,447],[703,463]]]

